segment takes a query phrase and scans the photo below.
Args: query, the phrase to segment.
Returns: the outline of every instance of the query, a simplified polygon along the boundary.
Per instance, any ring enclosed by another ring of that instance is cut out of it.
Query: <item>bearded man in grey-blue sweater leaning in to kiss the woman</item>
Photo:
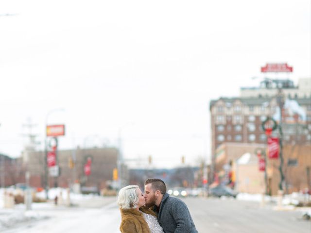
[[[162,180],[145,181],[145,200],[147,207],[153,206],[165,233],[198,233],[185,202],[170,197]]]

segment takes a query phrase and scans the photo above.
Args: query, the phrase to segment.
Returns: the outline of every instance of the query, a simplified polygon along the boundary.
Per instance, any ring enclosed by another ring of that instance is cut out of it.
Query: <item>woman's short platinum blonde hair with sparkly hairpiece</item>
[[[128,185],[120,189],[117,203],[121,209],[136,209],[139,202],[137,185]]]

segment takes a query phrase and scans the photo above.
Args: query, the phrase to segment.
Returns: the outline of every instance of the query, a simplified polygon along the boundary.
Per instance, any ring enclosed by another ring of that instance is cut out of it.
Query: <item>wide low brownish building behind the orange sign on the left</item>
[[[23,154],[24,167],[30,171],[30,184],[44,187],[44,151],[28,151]],[[75,165],[70,168],[73,158]],[[84,165],[91,158],[91,174],[85,176]],[[82,186],[105,188],[112,181],[113,169],[117,168],[118,150],[116,148],[86,148],[57,151],[60,176],[57,178],[59,187],[69,187],[73,182]],[[49,186],[55,185],[55,178],[49,176]]]

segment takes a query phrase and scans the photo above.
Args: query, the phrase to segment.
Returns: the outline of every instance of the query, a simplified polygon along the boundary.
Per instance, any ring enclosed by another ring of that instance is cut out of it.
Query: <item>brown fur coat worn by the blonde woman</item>
[[[155,212],[145,207],[140,210],[146,214],[156,216]],[[120,209],[121,211],[121,233],[150,233],[149,226],[144,216],[135,209]]]

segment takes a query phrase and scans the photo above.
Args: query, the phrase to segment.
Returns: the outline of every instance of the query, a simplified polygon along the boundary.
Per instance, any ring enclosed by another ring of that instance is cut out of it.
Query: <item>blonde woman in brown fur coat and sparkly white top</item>
[[[121,188],[118,196],[122,233],[164,233],[156,214],[147,208],[145,198],[137,185]]]

